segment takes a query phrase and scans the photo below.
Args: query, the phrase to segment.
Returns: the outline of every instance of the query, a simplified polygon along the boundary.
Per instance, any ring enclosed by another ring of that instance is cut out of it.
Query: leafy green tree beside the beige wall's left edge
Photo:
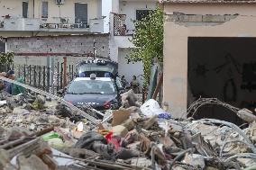
[[[136,48],[131,49],[128,62],[142,61],[144,85],[149,85],[153,59],[163,59],[163,10],[160,6],[141,21],[134,22],[135,32],[131,42]]]

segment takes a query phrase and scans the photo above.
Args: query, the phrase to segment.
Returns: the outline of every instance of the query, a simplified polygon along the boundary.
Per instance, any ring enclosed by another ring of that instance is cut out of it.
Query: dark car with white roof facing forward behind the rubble
[[[100,112],[121,105],[116,80],[111,77],[77,77],[67,87],[64,100],[75,106],[90,105]]]

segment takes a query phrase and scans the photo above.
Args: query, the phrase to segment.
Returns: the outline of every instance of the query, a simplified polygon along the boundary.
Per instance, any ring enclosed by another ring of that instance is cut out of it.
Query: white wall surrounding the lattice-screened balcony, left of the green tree
[[[155,9],[157,0],[113,0],[112,13],[110,15],[110,58],[119,64],[119,75],[125,76],[128,82],[132,81],[133,76],[139,76],[142,85],[143,67],[142,62],[127,64],[126,56],[129,56],[129,48],[134,48],[133,43],[129,40],[132,36],[114,36],[114,14],[126,14],[126,29],[133,32],[136,20],[136,10]]]

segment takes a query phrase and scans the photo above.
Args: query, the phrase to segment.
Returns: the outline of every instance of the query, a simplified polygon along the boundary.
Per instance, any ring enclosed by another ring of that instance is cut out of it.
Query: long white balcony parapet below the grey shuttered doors
[[[88,24],[70,22],[68,18],[11,18],[0,21],[0,31],[86,31],[101,33],[104,31],[104,19],[91,19]]]

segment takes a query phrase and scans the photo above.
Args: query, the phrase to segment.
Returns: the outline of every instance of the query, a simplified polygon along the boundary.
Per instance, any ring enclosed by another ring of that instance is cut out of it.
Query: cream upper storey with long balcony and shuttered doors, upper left
[[[31,35],[32,32],[32,35],[108,32],[105,27],[108,21],[103,15],[103,6],[107,1],[3,0],[0,3],[0,34],[17,36]]]

